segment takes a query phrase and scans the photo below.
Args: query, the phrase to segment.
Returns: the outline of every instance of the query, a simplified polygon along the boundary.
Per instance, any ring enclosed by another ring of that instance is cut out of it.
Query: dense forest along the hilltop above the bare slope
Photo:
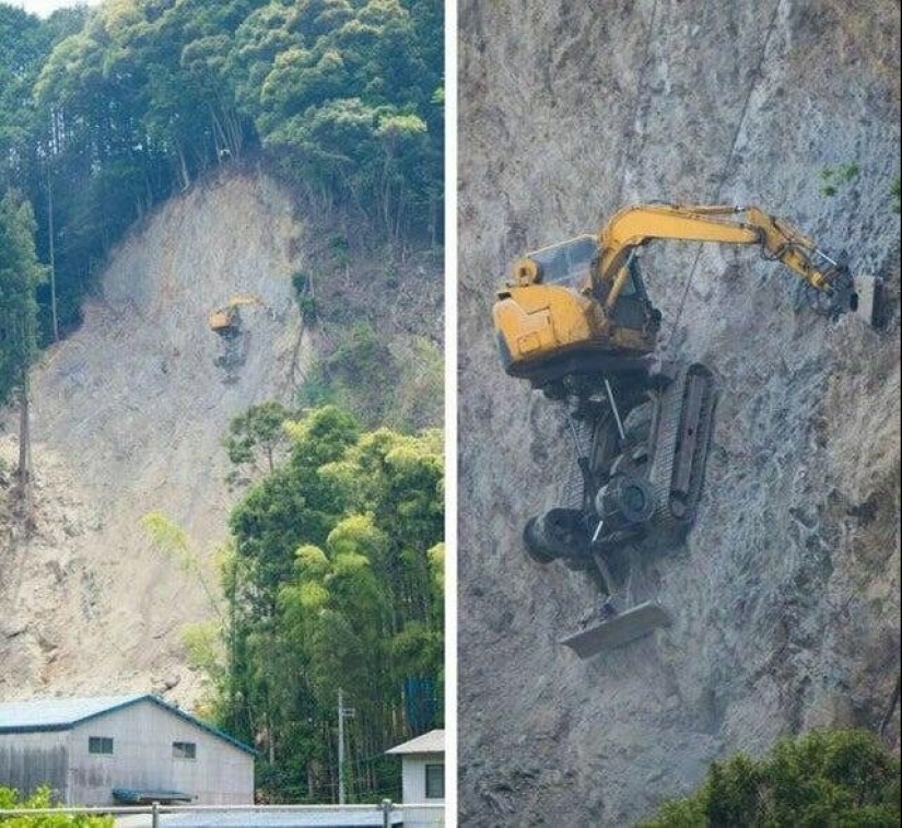
[[[321,214],[441,241],[437,0],[0,2],[0,196],[32,203],[44,340],[110,245],[219,164],[261,156]]]

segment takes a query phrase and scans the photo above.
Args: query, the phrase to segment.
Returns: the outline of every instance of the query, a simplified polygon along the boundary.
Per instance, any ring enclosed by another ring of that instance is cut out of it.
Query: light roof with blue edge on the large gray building
[[[139,701],[150,701],[157,707],[184,719],[186,722],[203,728],[214,736],[249,754],[257,751],[223,733],[211,724],[186,713],[180,708],[169,704],[159,696],[150,693],[131,693],[129,696],[98,696],[87,699],[32,699],[30,701],[0,702],[0,733],[33,733],[39,731],[68,731],[90,719],[112,713]]]

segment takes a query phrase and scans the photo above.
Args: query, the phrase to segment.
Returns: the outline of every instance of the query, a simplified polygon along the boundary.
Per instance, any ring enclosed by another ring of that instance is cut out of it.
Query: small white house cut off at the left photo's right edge
[[[430,731],[386,753],[401,757],[405,825],[444,825],[444,808],[412,806],[445,802],[445,732]]]

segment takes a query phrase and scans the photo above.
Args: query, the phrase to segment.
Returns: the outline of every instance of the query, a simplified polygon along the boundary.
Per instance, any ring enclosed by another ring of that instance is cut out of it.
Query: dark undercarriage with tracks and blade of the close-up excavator
[[[654,602],[617,613],[613,598],[631,605],[632,569],[681,543],[694,522],[716,388],[700,363],[572,380],[565,403],[582,492],[578,502],[530,520],[524,540],[535,560],[560,559],[597,581],[599,611],[561,642],[586,657],[669,623]]]

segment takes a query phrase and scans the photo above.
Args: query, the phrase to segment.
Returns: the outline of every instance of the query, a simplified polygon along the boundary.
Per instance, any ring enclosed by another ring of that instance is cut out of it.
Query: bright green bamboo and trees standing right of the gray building
[[[262,746],[265,800],[329,800],[342,689],[358,711],[350,795],[396,796],[397,767],[382,753],[410,735],[403,681],[442,676],[442,435],[361,432],[336,407],[285,431],[288,456],[230,520],[216,715]]]

